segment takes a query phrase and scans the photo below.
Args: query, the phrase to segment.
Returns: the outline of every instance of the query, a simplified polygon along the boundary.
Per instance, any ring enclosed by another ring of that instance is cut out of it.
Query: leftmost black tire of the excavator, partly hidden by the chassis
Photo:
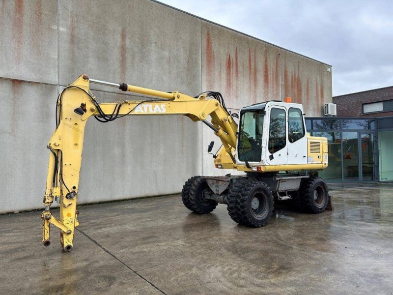
[[[217,207],[217,202],[203,200],[203,191],[209,189],[203,177],[194,176],[189,178],[181,191],[181,199],[184,206],[198,214],[206,214],[213,211]]]

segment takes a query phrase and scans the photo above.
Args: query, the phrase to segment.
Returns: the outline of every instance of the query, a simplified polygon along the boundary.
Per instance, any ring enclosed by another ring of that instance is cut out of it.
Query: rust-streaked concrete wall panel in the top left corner
[[[57,84],[57,1],[1,1],[0,40],[0,77]]]

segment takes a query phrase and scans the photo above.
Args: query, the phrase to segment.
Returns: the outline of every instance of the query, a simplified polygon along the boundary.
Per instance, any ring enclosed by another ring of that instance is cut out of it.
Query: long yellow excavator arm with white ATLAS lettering
[[[117,87],[123,91],[131,91],[153,96],[149,100],[127,100],[115,103],[98,103],[89,89],[89,83]],[[161,100],[157,100],[160,98]],[[67,86],[57,99],[56,130],[52,135],[48,148],[50,158],[48,177],[44,196],[45,210],[41,214],[44,222],[42,242],[49,246],[50,225],[60,229],[60,242],[64,251],[73,247],[77,220],[77,199],[79,176],[82,162],[84,127],[90,117],[102,122],[130,115],[184,115],[193,121],[202,121],[214,130],[221,139],[223,148],[220,153],[226,155],[236,167],[232,152],[236,147],[237,124],[217,99],[206,99],[206,94],[197,98],[180,92],[163,92],[145,89],[127,84],[114,84],[80,76],[73,84]],[[207,121],[208,116],[211,121]],[[55,198],[59,200],[60,216],[52,215],[50,207]]]

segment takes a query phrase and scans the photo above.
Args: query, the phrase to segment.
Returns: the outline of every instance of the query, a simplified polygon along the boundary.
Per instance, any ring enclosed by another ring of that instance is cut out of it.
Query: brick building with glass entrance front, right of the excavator
[[[313,136],[328,139],[328,182],[393,181],[393,86],[333,97],[337,117],[306,118]],[[378,117],[378,118],[377,118]]]

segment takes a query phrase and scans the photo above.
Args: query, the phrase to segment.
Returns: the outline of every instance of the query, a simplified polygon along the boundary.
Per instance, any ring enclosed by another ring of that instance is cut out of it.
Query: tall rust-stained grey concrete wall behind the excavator
[[[42,206],[56,96],[80,74],[216,90],[234,112],[289,95],[319,116],[332,100],[330,66],[149,0],[1,1],[0,41],[0,213]],[[132,98],[92,89],[102,102]],[[177,193],[188,177],[227,173],[205,151],[213,139],[185,117],[92,119],[79,203]]]

